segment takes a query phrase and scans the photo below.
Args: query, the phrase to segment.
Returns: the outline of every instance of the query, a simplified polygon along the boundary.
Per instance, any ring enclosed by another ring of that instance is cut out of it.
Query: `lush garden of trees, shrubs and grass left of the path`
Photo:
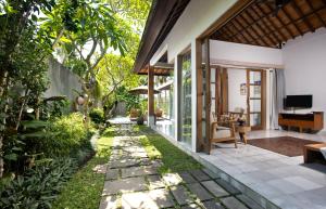
[[[0,0],[0,208],[98,207],[105,120],[116,101],[138,108],[128,90],[146,82],[131,68],[150,4]],[[73,100],[45,96],[51,58],[78,79]]]

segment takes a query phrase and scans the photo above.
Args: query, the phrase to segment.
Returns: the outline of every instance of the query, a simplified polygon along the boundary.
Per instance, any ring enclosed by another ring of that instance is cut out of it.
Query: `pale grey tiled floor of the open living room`
[[[325,135],[286,131],[253,131],[250,139],[290,135],[325,141]],[[285,209],[326,209],[326,166],[304,165],[303,157],[287,157],[251,145],[218,144],[212,155],[199,156]]]

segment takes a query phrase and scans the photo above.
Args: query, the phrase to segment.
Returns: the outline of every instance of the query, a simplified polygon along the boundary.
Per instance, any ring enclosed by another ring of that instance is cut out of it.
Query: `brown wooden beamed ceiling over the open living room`
[[[211,39],[269,48],[326,27],[326,0],[255,0],[216,30]]]

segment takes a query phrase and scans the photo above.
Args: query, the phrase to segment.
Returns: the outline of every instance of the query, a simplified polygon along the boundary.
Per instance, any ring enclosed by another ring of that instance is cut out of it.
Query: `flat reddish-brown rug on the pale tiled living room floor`
[[[318,144],[311,140],[302,140],[299,138],[280,136],[280,138],[265,138],[248,140],[248,144],[272,151],[289,157],[303,155],[303,146],[305,144]]]

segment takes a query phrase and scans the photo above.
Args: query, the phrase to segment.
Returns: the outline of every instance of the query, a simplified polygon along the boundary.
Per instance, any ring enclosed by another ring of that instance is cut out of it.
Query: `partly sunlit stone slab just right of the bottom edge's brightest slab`
[[[173,198],[166,188],[153,190],[148,194],[160,208],[168,208],[174,206]]]

